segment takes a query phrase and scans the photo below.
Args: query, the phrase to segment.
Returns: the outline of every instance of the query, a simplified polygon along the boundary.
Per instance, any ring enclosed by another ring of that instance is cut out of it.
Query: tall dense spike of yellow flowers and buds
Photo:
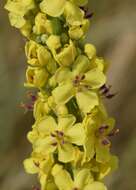
[[[107,64],[84,41],[86,4],[8,0],[5,6],[27,38],[25,86],[37,89],[27,135],[33,151],[24,167],[38,174],[41,190],[106,190],[102,180],[118,163],[110,152],[115,122],[102,102]]]

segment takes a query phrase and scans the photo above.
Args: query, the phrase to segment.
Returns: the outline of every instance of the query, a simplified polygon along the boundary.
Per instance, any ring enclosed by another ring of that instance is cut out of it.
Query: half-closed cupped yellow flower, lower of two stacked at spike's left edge
[[[26,71],[26,87],[43,87],[48,80],[48,72],[45,68],[28,67]]]

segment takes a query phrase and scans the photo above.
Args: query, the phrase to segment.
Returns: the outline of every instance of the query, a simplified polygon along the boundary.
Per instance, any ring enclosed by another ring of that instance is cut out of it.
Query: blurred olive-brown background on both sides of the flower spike
[[[24,39],[12,28],[0,0],[0,189],[29,190],[35,178],[25,174],[22,160],[31,152],[26,133],[32,113],[24,114],[26,58]],[[117,96],[107,100],[120,133],[113,139],[118,171],[108,177],[109,190],[136,189],[136,0],[89,0],[94,12],[88,40],[110,63],[108,84]]]

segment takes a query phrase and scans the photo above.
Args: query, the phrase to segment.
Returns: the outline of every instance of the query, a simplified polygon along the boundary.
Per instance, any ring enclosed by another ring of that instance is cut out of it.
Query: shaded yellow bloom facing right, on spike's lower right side
[[[85,156],[87,160],[96,157],[96,161],[106,163],[110,160],[110,141],[108,135],[114,128],[113,118],[103,116],[100,111],[84,119],[86,130]]]

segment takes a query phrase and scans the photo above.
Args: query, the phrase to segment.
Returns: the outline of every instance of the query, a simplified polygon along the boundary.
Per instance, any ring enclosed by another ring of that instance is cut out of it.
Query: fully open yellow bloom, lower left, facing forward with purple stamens
[[[84,129],[81,123],[74,124],[75,121],[73,115],[60,117],[58,124],[51,116],[41,119],[34,127],[39,135],[33,142],[34,150],[45,154],[57,151],[61,162],[74,160],[74,145],[82,146],[85,141]]]

